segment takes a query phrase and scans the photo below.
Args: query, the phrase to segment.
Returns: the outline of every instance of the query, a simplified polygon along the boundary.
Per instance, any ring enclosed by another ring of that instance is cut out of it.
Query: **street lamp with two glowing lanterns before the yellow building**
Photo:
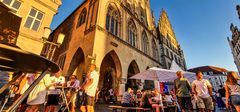
[[[63,33],[58,34],[57,43],[48,41],[49,35],[51,34],[52,30],[49,27],[44,27],[44,33],[43,33],[43,43],[49,44],[49,47],[47,48],[46,58],[49,60],[52,60],[54,52],[57,47],[60,47],[60,45],[63,43],[65,35]]]

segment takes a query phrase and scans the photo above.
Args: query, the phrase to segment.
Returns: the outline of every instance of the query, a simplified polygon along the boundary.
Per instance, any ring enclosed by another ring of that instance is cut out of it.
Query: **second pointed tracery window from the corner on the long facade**
[[[136,37],[137,37],[137,30],[134,22],[130,20],[128,22],[128,43],[132,46],[136,47]]]

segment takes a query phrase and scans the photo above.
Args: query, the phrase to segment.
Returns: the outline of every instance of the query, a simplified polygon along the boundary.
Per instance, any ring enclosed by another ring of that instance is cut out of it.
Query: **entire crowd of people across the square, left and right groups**
[[[46,74],[44,78],[34,87],[27,98],[16,110],[17,112],[55,112],[59,105],[59,100],[63,97],[61,89],[64,87],[68,91],[66,100],[71,101],[70,109],[82,112],[94,112],[94,103],[101,94],[98,91],[99,74],[96,65],[91,64],[87,72],[85,81],[80,84],[76,75],[67,78],[62,76],[62,71],[55,74]],[[39,76],[38,73],[26,73],[16,80],[15,90],[16,100],[29,88],[33,81]],[[128,88],[122,95],[121,105],[123,107],[143,107],[151,108],[160,112],[163,107],[169,107],[168,112],[179,110],[181,112],[213,112],[216,105],[220,109],[234,108],[240,112],[240,79],[236,72],[228,72],[224,86],[220,85],[218,91],[213,91],[211,83],[203,79],[202,72],[196,73],[196,80],[192,83],[184,77],[182,71],[176,72],[177,78],[174,80],[174,88],[170,92],[160,92],[158,89],[134,91]],[[116,92],[108,90],[109,102],[114,104]]]

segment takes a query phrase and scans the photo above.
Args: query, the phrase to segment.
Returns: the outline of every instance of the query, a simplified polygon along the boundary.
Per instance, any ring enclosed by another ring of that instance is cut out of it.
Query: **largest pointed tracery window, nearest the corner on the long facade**
[[[109,6],[106,17],[106,29],[113,35],[119,36],[120,15],[119,12],[113,7]]]

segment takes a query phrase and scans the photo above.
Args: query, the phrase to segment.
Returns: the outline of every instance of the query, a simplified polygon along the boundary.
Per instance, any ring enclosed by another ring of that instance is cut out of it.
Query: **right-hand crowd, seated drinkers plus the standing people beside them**
[[[196,73],[196,80],[191,84],[182,71],[176,72],[174,88],[170,93],[160,93],[158,90],[145,89],[134,92],[129,88],[122,98],[123,107],[144,107],[160,112],[163,106],[177,107],[181,112],[213,112],[216,104],[220,109],[234,108],[240,112],[240,79],[236,72],[228,72],[227,80],[221,89],[213,92],[211,83],[203,79],[202,72]],[[140,95],[139,95],[140,94]],[[168,110],[176,111],[176,110]]]

